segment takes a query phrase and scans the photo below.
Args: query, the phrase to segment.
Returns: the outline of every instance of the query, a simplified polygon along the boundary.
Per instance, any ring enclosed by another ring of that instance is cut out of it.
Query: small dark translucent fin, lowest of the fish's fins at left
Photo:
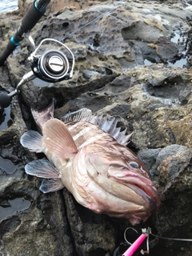
[[[42,181],[42,185],[40,186],[40,190],[43,193],[55,192],[58,190],[62,190],[64,185],[62,184],[61,179],[45,179]]]

